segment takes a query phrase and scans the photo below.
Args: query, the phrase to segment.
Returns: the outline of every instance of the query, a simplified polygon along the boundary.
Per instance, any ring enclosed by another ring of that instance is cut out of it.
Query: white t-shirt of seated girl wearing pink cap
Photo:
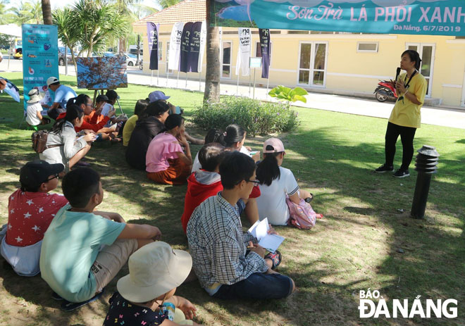
[[[287,225],[289,208],[287,208],[286,194],[292,196],[299,190],[292,171],[279,167],[280,177],[273,180],[271,185],[260,184],[261,195],[256,198],[259,206],[260,220],[268,218],[272,225]]]

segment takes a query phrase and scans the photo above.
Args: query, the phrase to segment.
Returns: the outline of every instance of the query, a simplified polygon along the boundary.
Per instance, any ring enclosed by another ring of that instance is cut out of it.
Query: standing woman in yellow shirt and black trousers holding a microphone
[[[392,109],[385,136],[385,163],[375,170],[376,173],[394,170],[395,143],[400,135],[402,141],[402,165],[394,177],[409,177],[409,165],[414,156],[414,137],[416,128],[421,125],[420,109],[425,101],[427,82],[419,73],[421,58],[414,50],[404,51],[400,61],[403,73],[396,81],[397,102]]]

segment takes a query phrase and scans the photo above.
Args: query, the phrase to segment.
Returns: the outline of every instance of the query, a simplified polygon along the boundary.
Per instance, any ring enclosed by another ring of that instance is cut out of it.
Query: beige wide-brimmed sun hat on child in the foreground
[[[166,242],[152,242],[132,253],[128,265],[129,274],[116,287],[124,299],[142,303],[179,287],[190,273],[192,257]]]

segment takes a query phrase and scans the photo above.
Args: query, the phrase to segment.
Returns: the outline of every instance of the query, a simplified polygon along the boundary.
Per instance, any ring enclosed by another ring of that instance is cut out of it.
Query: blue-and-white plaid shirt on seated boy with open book
[[[242,232],[237,205],[231,206],[221,192],[195,208],[187,224],[187,241],[192,267],[202,287],[234,284],[254,272],[266,272],[268,266],[257,253],[246,256],[247,243],[256,242]]]

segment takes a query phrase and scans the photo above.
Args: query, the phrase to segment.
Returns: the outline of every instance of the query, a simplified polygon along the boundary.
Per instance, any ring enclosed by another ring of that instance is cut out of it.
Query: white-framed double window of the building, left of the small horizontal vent
[[[299,84],[324,86],[328,44],[309,42],[300,44]]]

